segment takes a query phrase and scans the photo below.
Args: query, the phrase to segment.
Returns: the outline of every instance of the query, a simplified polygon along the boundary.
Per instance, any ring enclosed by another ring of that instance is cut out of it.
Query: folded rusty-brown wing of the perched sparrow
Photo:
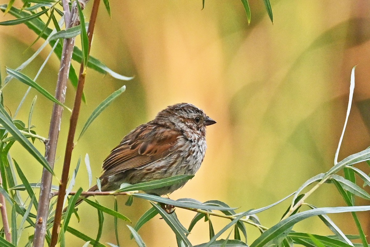
[[[102,177],[141,168],[168,156],[181,137],[180,131],[164,126],[145,124],[137,127],[104,160]]]

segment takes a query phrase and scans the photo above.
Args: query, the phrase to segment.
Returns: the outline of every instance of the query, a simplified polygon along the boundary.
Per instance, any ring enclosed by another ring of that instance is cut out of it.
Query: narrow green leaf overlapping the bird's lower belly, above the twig
[[[178,184],[184,181],[188,181],[189,179],[193,178],[194,175],[176,175],[173,177],[168,177],[168,178],[162,178],[154,181],[149,181],[149,182],[143,182],[143,183],[138,183],[138,184],[132,184],[129,186],[126,186],[124,188],[120,188],[116,192],[124,192],[124,191],[132,191],[132,190],[152,190],[155,188],[163,188],[167,186],[171,186],[173,184]]]

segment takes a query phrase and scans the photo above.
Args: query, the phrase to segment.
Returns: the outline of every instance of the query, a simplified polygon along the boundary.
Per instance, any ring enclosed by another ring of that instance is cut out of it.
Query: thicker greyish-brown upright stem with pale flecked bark
[[[65,13],[68,13],[68,17],[65,19],[65,26],[71,26],[71,20],[69,17],[69,6],[67,0],[62,0]],[[58,73],[57,87],[55,90],[55,98],[61,103],[65,100],[65,91],[67,89],[68,74],[72,59],[74,38],[64,39],[63,50],[60,60],[60,69]],[[60,123],[63,113],[63,107],[58,104],[54,104],[53,112],[51,113],[50,128],[48,141],[45,143],[45,158],[48,161],[51,168],[54,168],[55,153],[57,149],[58,136],[60,131]],[[38,210],[35,226],[35,234],[33,238],[33,247],[43,247],[45,242],[46,234],[46,219],[48,216],[49,204],[50,204],[50,191],[52,175],[47,170],[43,169],[41,177],[41,188],[40,196],[38,199]]]

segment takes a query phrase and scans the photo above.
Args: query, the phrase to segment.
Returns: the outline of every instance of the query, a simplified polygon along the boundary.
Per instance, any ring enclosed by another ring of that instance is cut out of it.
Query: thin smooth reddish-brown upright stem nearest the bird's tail
[[[89,22],[89,27],[87,31],[88,53],[90,53],[92,34],[94,33],[94,27],[95,27],[96,17],[98,14],[99,3],[100,3],[100,0],[94,0],[94,3],[92,5],[90,22]],[[78,77],[78,86],[77,86],[77,91],[75,95],[72,115],[70,119],[70,127],[68,130],[67,145],[65,147],[62,177],[61,177],[61,181],[59,185],[60,193],[58,194],[58,198],[57,198],[57,206],[55,209],[53,231],[51,232],[50,247],[54,247],[57,244],[58,235],[60,231],[60,221],[61,221],[61,216],[62,216],[62,211],[63,211],[63,201],[64,201],[64,196],[65,196],[65,189],[67,187],[68,173],[70,169],[71,156],[72,156],[72,151],[73,151],[73,146],[74,146],[73,140],[74,140],[74,135],[76,132],[78,115],[80,113],[80,106],[81,106],[81,99],[82,99],[84,84],[85,84],[85,69],[84,69],[83,63],[81,63],[80,74]]]

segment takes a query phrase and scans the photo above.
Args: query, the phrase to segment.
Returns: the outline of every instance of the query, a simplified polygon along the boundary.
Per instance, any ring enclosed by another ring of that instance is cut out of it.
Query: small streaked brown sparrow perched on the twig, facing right
[[[154,120],[127,134],[103,162],[101,190],[113,191],[122,183],[136,184],[180,174],[194,175],[206,151],[206,126],[216,121],[189,103],[168,106]],[[182,182],[146,193],[165,195]],[[97,191],[92,186],[89,191]],[[81,203],[79,199],[76,203]]]

